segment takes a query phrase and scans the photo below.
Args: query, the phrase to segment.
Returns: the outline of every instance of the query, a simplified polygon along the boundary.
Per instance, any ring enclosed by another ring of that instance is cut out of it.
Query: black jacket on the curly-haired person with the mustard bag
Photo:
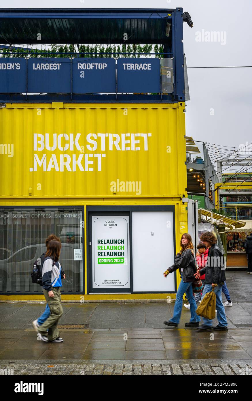
[[[204,273],[205,284],[220,284],[226,281],[224,255],[216,244],[209,248],[206,267],[200,269],[200,274]]]

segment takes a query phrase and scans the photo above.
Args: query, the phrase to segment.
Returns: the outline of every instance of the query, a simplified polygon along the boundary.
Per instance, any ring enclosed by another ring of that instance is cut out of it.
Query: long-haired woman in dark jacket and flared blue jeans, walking
[[[197,269],[193,252],[194,246],[190,234],[186,233],[182,235],[180,247],[181,249],[179,253],[177,253],[173,265],[163,273],[163,275],[167,277],[169,273],[179,269],[181,274],[181,282],[177,289],[173,317],[168,321],[165,320],[163,323],[166,326],[177,327],[183,306],[183,295],[186,294],[186,298],[190,303],[191,319],[190,322],[185,323],[185,327],[198,327],[200,325],[200,317],[196,314],[197,305],[192,290],[192,283],[195,279],[194,274]]]

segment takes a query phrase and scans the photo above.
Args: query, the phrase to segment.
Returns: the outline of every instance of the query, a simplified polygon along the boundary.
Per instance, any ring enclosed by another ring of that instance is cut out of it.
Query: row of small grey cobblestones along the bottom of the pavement
[[[0,365],[1,375],[252,375],[252,365],[93,364]]]

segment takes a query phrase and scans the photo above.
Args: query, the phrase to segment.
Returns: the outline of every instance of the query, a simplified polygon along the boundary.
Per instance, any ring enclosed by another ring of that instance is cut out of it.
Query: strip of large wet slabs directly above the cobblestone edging
[[[252,360],[250,328],[61,329],[60,335],[64,342],[52,343],[38,341],[33,329],[0,330],[0,360]]]

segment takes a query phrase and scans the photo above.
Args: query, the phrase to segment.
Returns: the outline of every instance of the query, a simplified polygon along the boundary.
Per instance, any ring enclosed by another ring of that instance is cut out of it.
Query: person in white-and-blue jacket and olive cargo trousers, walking
[[[44,297],[50,308],[50,315],[46,321],[38,328],[38,340],[44,342],[63,342],[63,338],[58,335],[57,324],[63,314],[61,306],[60,287],[61,265],[58,261],[60,256],[61,243],[59,241],[49,241],[46,250],[46,257],[42,266],[42,286]],[[48,330],[48,333],[47,333]]]

